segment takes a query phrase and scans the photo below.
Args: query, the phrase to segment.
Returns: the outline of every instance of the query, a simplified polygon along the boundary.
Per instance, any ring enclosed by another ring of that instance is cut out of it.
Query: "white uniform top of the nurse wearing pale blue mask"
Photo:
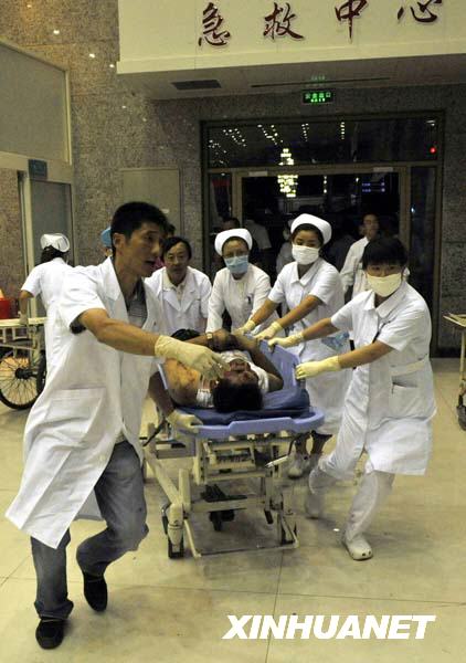
[[[232,329],[243,326],[266,301],[271,292],[268,275],[255,265],[247,266],[241,278],[233,278],[224,267],[216,273],[209,302],[206,332],[216,332],[223,326],[222,315],[226,309],[232,318]],[[276,313],[262,327],[277,319]],[[261,327],[260,327],[261,328]]]

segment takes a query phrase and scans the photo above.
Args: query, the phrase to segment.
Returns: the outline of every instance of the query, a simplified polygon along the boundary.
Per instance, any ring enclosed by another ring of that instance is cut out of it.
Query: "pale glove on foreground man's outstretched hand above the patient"
[[[229,369],[229,365],[223,361],[222,357],[209,348],[177,340],[170,336],[159,336],[153,346],[153,354],[156,357],[177,359],[188,368],[199,370],[208,380],[221,378]]]

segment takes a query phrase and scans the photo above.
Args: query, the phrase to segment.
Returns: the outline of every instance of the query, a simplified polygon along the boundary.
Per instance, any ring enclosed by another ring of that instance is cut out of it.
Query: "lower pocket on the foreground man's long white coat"
[[[99,412],[105,388],[61,389],[56,391],[45,414],[56,438],[70,446],[96,442],[103,430],[104,413]]]

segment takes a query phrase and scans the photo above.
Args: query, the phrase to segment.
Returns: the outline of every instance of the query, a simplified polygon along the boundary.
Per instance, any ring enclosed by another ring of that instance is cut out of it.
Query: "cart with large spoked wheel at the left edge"
[[[27,410],[45,382],[44,317],[0,320],[0,401]]]

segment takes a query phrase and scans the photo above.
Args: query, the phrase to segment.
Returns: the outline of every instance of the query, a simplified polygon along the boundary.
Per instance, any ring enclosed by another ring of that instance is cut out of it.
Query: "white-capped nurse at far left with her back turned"
[[[41,236],[41,264],[34,267],[20,292],[20,320],[28,324],[28,301],[41,296],[46,312],[45,355],[47,372],[54,364],[53,333],[55,329],[56,305],[62,292],[63,281],[73,269],[67,264],[70,242],[64,234],[47,233]]]

